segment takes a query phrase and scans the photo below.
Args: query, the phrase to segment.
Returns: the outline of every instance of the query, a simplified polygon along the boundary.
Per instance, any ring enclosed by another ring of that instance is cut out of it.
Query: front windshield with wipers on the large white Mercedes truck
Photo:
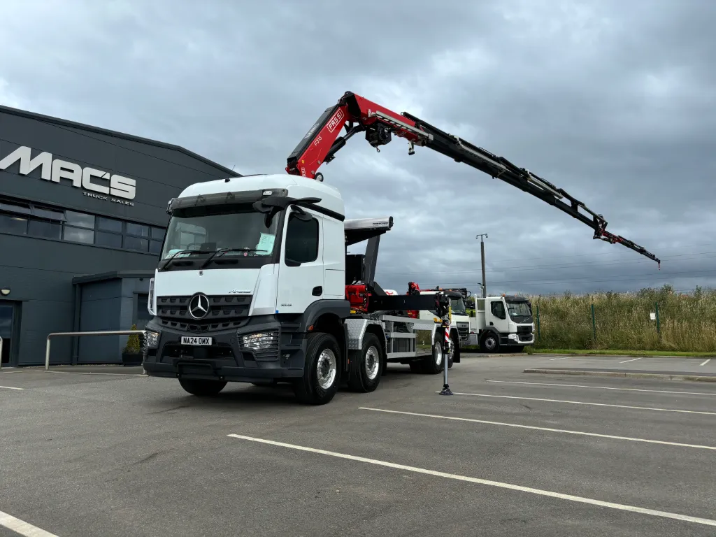
[[[271,256],[279,218],[266,227],[265,216],[253,208],[209,205],[175,211],[167,228],[162,258],[226,249],[223,258]],[[180,253],[185,251],[183,253]],[[176,254],[176,255],[175,255]]]

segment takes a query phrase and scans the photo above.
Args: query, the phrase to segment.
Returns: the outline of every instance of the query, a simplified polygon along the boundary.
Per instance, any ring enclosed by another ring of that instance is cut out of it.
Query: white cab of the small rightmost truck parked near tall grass
[[[475,316],[469,322],[468,344],[483,352],[521,352],[534,344],[532,305],[524,296],[475,296]]]

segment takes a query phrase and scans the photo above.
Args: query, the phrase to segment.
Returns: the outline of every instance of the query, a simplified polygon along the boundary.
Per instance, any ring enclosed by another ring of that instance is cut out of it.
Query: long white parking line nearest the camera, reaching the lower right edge
[[[634,505],[624,505],[622,503],[606,502],[602,500],[594,500],[592,498],[584,498],[582,496],[574,496],[571,494],[563,494],[553,492],[551,490],[541,490],[539,488],[524,487],[522,485],[513,485],[511,483],[500,483],[500,481],[492,481],[488,479],[470,478],[467,475],[458,475],[454,473],[438,472],[437,470],[427,470],[427,468],[417,468],[416,466],[407,466],[397,463],[389,463],[385,460],[369,459],[366,457],[358,457],[357,455],[348,455],[347,453],[337,453],[335,451],[319,450],[316,448],[307,448],[306,446],[287,444],[285,442],[276,442],[275,440],[265,440],[263,438],[256,438],[244,435],[227,435],[232,438],[238,438],[239,440],[249,440],[251,442],[259,442],[262,444],[275,445],[279,448],[289,448],[292,450],[307,451],[309,453],[319,453],[320,455],[329,455],[330,457],[337,457],[348,460],[355,460],[359,463],[368,463],[377,466],[384,466],[387,468],[395,468],[396,470],[406,470],[409,472],[421,473],[425,475],[435,475],[438,478],[454,479],[459,481],[467,481],[468,483],[477,483],[478,485],[488,485],[490,487],[506,488],[508,490],[518,490],[519,492],[537,494],[541,496],[548,496],[550,498],[558,498],[560,500],[569,500],[578,503],[586,503],[589,505],[597,505],[599,507],[608,507],[611,509],[617,509],[619,511],[630,511],[632,513],[640,513],[642,515],[659,516],[663,518],[672,518],[677,521],[692,522],[696,524],[703,524],[705,526],[716,526],[716,521],[710,518],[698,518],[695,516],[679,515],[678,513],[669,513],[668,511],[657,511],[655,509],[647,509],[643,507],[636,507]]]

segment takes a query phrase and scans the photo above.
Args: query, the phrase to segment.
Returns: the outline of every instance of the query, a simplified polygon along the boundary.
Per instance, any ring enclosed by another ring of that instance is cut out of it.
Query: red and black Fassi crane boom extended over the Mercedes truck
[[[346,132],[341,135],[343,128]],[[477,168],[586,224],[594,229],[595,239],[622,244],[657,261],[659,269],[661,268],[661,261],[653,253],[627,238],[606,231],[606,220],[601,214],[591,211],[584,203],[548,180],[525,168],[519,168],[506,158],[498,157],[482,147],[442,131],[414,115],[392,112],[352,92],[345,92],[335,105],[326,108],[289,155],[286,172],[316,178],[319,166],[331,162],[337,151],[358,132],[365,132],[367,142],[378,151],[379,147],[389,143],[395,134],[407,140],[409,155],[415,153],[416,145],[430,147],[455,162]]]

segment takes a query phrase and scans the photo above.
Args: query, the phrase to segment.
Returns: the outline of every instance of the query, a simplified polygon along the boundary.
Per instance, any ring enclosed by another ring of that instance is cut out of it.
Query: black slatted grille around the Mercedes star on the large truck
[[[193,295],[158,296],[157,316],[168,328],[188,332],[211,332],[234,328],[241,319],[248,317],[251,295],[210,295],[209,311],[203,319],[194,319],[189,314],[189,301]]]

